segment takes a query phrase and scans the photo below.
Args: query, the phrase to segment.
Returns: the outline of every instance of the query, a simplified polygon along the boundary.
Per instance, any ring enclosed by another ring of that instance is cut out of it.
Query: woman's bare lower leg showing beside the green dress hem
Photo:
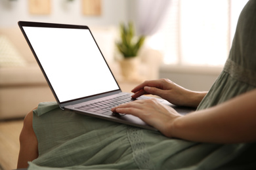
[[[28,161],[38,157],[37,137],[32,126],[33,111],[24,118],[24,124],[20,133],[20,153],[18,155],[17,168],[28,167]]]

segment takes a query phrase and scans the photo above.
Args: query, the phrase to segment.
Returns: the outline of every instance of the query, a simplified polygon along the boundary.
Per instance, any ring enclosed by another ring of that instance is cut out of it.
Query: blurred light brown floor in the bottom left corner
[[[16,169],[23,120],[0,122],[0,169]]]

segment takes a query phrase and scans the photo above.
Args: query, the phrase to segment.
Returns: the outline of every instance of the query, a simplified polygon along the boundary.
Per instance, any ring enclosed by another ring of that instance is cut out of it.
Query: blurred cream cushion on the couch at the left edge
[[[24,67],[26,61],[4,35],[0,35],[0,67]]]

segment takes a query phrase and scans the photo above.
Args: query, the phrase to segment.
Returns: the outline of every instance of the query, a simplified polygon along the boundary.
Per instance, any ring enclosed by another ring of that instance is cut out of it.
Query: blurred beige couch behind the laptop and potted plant
[[[125,81],[113,57],[116,29],[95,27],[92,32],[117,82]],[[140,58],[141,78],[158,78],[160,52],[144,48]],[[0,28],[0,120],[23,118],[41,101],[54,101],[54,96],[20,29]]]

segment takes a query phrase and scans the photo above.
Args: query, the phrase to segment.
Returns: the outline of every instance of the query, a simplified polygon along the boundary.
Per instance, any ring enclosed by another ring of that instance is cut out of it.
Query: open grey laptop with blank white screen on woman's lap
[[[111,112],[111,104],[133,99],[121,92],[89,27],[22,21],[18,25],[60,109],[156,130],[136,116]]]

